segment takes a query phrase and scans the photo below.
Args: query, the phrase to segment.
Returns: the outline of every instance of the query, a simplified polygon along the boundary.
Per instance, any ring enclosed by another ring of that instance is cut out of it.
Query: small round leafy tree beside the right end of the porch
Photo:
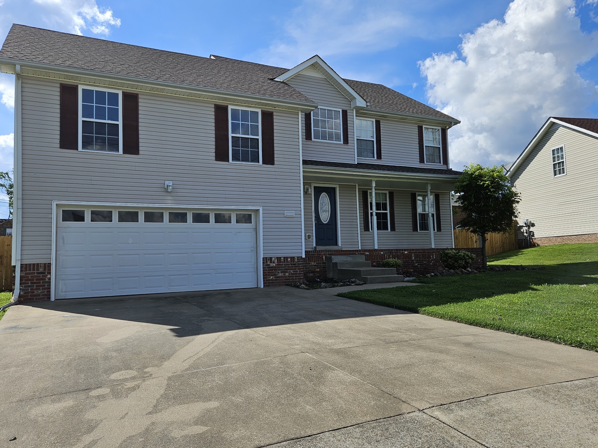
[[[484,269],[487,267],[486,235],[507,232],[517,217],[519,194],[512,188],[502,168],[471,164],[463,170],[454,192],[465,215],[460,226],[480,235]]]

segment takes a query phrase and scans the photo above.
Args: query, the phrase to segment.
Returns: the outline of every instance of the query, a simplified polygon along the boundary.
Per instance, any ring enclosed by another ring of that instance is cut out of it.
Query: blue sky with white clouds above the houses
[[[0,36],[14,22],[283,67],[319,54],[345,78],[459,118],[458,169],[512,161],[550,115],[598,116],[596,17],[598,0],[4,0]],[[13,83],[0,78],[0,170],[12,162]]]

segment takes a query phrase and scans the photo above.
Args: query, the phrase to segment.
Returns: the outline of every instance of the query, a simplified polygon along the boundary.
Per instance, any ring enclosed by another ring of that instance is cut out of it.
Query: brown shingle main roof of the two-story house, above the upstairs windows
[[[313,103],[286,82],[273,80],[288,70],[282,67],[221,56],[208,58],[155,50],[19,24],[14,24],[8,32],[0,57]],[[372,109],[458,121],[385,85],[345,81]]]

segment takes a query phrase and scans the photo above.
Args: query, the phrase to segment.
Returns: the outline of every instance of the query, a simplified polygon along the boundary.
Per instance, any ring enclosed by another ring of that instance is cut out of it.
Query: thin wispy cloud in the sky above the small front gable
[[[403,11],[401,11],[401,9]],[[419,22],[395,2],[306,0],[283,24],[284,36],[258,57],[281,67],[292,67],[319,54],[364,54],[395,47],[401,33],[420,33]]]

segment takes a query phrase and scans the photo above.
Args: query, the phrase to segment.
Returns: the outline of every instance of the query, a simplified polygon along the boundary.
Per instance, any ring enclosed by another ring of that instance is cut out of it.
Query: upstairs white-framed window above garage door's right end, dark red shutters
[[[260,111],[229,108],[231,162],[261,163]]]

